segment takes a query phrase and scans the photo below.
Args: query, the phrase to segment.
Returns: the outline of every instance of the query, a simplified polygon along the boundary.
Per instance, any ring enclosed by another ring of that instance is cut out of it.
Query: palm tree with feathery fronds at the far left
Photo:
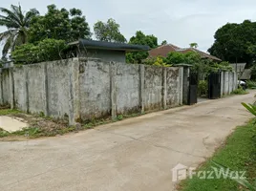
[[[6,58],[9,51],[13,51],[16,46],[25,44],[28,41],[28,29],[32,21],[32,17],[39,14],[38,11],[32,9],[24,12],[20,5],[11,5],[11,10],[0,8],[5,15],[0,14],[0,26],[7,27],[6,32],[0,33],[0,42],[5,41],[2,51],[2,58]]]

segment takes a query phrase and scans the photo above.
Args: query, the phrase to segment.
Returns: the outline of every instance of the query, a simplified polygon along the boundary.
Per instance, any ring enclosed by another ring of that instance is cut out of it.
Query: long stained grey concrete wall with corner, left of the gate
[[[75,124],[178,106],[182,85],[182,68],[74,58],[3,70],[0,100]]]

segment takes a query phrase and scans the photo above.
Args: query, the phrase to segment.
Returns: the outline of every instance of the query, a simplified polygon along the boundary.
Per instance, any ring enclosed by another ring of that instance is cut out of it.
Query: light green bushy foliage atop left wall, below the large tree
[[[64,40],[44,39],[37,45],[28,43],[17,47],[11,57],[15,64],[32,64],[66,58],[67,49]]]

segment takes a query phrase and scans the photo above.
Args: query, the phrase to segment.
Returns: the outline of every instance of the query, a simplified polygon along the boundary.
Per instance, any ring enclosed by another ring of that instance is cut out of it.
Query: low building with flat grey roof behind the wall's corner
[[[124,43],[112,43],[96,40],[84,40],[72,42],[73,53],[77,57],[94,57],[103,61],[115,61],[125,63],[125,53],[149,51],[150,47],[143,45],[131,45]]]

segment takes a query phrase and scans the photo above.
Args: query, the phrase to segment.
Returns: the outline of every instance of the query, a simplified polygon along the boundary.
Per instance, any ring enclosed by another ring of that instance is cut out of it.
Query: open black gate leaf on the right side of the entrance
[[[208,77],[208,97],[221,98],[221,73],[211,73]]]

